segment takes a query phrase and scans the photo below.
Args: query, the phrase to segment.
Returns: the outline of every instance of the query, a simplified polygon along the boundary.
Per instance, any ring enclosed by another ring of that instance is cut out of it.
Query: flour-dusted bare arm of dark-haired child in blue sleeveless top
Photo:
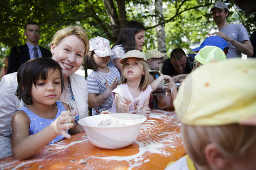
[[[16,159],[23,160],[36,154],[57,135],[70,137],[66,129],[73,126],[72,118],[60,115],[45,129],[29,135],[30,119],[24,111],[17,111],[12,117],[12,152]]]

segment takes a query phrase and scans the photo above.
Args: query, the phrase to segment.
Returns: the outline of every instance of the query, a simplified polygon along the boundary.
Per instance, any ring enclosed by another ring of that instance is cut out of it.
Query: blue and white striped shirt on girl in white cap
[[[109,67],[110,72],[108,74],[92,71],[92,73],[87,77],[88,93],[95,93],[97,95],[102,94],[106,91],[106,80],[111,84],[114,79],[117,77],[120,81],[120,72],[116,67]],[[109,96],[105,102],[99,107],[92,108],[92,115],[97,115],[103,110],[108,110],[112,107],[113,97]]]

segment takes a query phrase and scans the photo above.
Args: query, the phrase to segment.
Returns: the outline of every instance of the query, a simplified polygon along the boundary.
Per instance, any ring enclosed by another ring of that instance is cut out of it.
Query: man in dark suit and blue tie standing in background
[[[38,57],[52,57],[52,54],[46,48],[38,45],[40,34],[39,25],[36,22],[27,22],[24,26],[24,36],[27,37],[27,43],[14,47],[8,58],[7,74],[16,72],[24,62]]]

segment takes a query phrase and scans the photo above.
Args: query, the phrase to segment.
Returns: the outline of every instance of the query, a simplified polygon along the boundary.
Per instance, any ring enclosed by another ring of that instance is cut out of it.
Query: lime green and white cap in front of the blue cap
[[[221,50],[221,48],[217,46],[206,45],[201,50],[199,50],[195,56],[195,59],[204,65],[209,63],[211,60],[226,60],[226,55]]]

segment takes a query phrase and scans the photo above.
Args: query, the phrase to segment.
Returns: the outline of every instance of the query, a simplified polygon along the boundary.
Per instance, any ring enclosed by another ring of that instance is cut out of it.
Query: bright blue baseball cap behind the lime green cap
[[[199,51],[205,45],[218,46],[221,50],[224,50],[225,47],[228,47],[227,41],[221,38],[220,36],[210,36],[205,38],[201,45],[197,48],[191,50],[191,52]]]

